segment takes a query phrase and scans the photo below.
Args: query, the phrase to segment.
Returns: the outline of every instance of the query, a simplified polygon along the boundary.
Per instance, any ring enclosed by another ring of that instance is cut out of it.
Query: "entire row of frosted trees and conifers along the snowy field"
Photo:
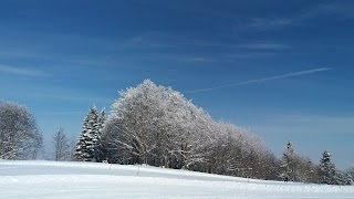
[[[226,122],[214,121],[202,108],[170,87],[145,80],[119,92],[108,117],[90,108],[76,143],[61,128],[52,136],[54,160],[97,161],[189,169],[209,174],[350,185],[354,169],[341,172],[331,155],[320,165],[294,153],[289,142],[278,159],[260,137]],[[0,158],[35,159],[42,135],[24,106],[0,104]]]

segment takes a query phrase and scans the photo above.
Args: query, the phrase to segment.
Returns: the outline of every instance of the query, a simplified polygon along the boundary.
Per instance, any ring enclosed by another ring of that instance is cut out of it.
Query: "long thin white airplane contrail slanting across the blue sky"
[[[239,86],[239,85],[247,85],[247,84],[254,84],[254,83],[259,83],[259,82],[287,78],[287,77],[292,77],[292,76],[308,75],[308,74],[319,73],[319,72],[330,71],[330,70],[332,70],[332,67],[319,67],[319,69],[287,73],[287,74],[270,76],[270,77],[264,77],[264,78],[250,80],[250,81],[246,81],[246,82],[239,82],[236,84],[228,84],[228,85],[221,85],[221,86],[216,86],[216,87],[207,87],[207,88],[201,88],[201,90],[187,91],[186,93],[208,92],[208,91],[220,90],[220,88],[225,88],[225,87],[233,87],[233,86]]]

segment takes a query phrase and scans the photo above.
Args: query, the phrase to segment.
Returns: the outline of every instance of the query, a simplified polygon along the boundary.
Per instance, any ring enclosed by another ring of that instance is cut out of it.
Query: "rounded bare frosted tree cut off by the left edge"
[[[0,158],[35,158],[42,135],[30,111],[11,102],[0,102]]]

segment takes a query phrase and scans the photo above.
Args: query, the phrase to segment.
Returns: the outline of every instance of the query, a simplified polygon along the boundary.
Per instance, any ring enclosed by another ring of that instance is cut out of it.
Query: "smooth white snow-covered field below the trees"
[[[0,160],[0,198],[354,198],[354,186],[263,181],[148,166]]]

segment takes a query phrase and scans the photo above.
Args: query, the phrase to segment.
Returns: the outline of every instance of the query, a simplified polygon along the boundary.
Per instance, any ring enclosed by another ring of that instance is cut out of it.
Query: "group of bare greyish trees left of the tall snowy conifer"
[[[43,151],[43,136],[23,105],[0,102],[0,159],[72,160],[72,146],[63,128],[52,136],[53,151]]]

